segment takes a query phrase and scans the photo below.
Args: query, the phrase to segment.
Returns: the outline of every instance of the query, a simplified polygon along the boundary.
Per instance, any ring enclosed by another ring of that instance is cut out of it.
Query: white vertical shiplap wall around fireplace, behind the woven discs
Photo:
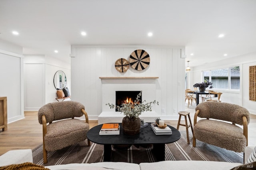
[[[142,71],[130,67],[118,72],[117,59],[128,59],[136,49],[144,49],[150,55],[150,65]],[[72,101],[86,107],[90,119],[97,119],[102,112],[102,81],[99,77],[159,77],[156,79],[156,113],[164,119],[176,119],[184,110],[184,65],[182,47],[92,47],[72,45],[71,90]],[[132,79],[130,80],[132,81]],[[162,113],[162,109],[165,110]],[[174,113],[174,109],[176,112]]]

